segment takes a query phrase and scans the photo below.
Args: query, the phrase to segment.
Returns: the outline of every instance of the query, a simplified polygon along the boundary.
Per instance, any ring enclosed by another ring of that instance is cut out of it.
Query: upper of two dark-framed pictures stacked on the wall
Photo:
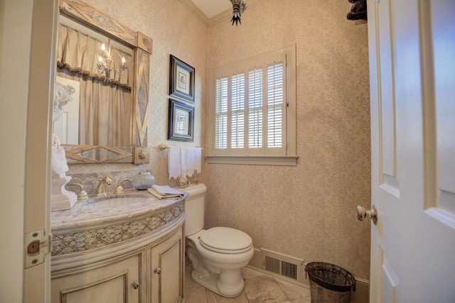
[[[194,103],[194,67],[171,55],[169,95]]]

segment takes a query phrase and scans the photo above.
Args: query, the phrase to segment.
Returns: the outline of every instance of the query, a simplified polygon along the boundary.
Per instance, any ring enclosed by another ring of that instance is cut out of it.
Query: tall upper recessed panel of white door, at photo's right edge
[[[431,19],[423,26],[431,31],[434,58],[434,106],[437,116],[437,205],[455,213],[455,1],[431,1]],[[428,12],[426,12],[428,13]],[[426,19],[428,20],[428,19]]]

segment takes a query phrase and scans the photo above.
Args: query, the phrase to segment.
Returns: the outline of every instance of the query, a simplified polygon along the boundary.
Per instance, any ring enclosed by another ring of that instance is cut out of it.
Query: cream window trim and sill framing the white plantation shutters
[[[286,83],[287,83],[287,102],[286,107],[286,155],[217,155],[215,150],[215,75],[220,75],[220,70],[231,69],[232,66],[245,66],[254,60],[269,57],[277,53],[287,54]],[[218,67],[209,72],[209,114],[208,114],[208,155],[205,160],[213,164],[247,164],[247,165],[296,165],[296,45],[291,45],[282,50],[265,53],[257,57],[242,60],[235,64]]]

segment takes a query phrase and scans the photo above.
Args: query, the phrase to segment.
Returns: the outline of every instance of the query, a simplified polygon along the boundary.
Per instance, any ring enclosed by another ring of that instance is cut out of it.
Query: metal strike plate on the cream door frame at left
[[[41,264],[52,250],[52,234],[45,236],[44,229],[26,233],[26,268]]]

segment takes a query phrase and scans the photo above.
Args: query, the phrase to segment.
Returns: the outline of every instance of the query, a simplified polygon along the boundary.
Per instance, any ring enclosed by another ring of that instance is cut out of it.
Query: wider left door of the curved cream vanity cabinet
[[[52,303],[141,302],[146,287],[141,277],[144,255],[145,248],[53,278]]]

